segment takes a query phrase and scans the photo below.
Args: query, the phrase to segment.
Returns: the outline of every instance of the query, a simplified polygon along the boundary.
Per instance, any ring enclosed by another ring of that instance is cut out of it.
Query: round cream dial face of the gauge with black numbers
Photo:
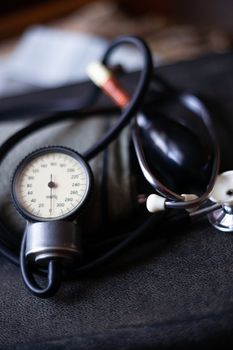
[[[16,170],[13,198],[21,213],[36,220],[56,220],[72,215],[85,201],[90,172],[71,150],[36,151]]]

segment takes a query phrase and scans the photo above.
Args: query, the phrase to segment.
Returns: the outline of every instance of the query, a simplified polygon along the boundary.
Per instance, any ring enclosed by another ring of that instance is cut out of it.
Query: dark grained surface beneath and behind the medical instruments
[[[173,85],[213,113],[222,169],[233,168],[233,54],[161,67]],[[30,295],[0,259],[1,349],[200,349],[233,346],[233,235],[206,219],[154,228],[94,276],[67,282],[50,300]]]

